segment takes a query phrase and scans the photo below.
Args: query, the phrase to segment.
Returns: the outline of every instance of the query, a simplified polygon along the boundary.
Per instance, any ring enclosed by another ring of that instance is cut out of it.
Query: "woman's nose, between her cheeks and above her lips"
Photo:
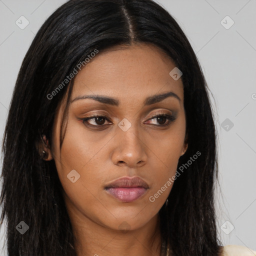
[[[132,125],[126,131],[118,128],[118,134],[114,137],[115,146],[111,155],[112,162],[115,165],[136,168],[146,163],[146,142],[139,136],[134,126]]]

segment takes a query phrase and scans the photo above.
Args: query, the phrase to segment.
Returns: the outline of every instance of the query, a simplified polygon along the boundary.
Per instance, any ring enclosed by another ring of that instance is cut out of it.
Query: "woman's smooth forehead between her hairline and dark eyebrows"
[[[74,79],[72,98],[81,94],[103,94],[145,98],[162,91],[173,91],[183,101],[181,79],[174,80],[169,72],[175,63],[156,46],[135,44],[115,46],[95,57]]]

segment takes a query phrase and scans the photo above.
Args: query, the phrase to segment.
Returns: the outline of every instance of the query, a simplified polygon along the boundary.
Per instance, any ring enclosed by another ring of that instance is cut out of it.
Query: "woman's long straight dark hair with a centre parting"
[[[43,23],[18,73],[3,137],[1,224],[7,219],[9,256],[74,256],[74,235],[54,161],[44,161],[36,143],[51,144],[56,109],[72,82],[56,90],[95,49],[148,43],[159,47],[182,71],[188,148],[184,171],[168,204],[159,211],[164,253],[220,255],[214,211],[217,180],[216,133],[207,85],[197,58],[173,17],[152,0],[69,0]],[[73,80],[73,79],[72,79]],[[71,81],[72,81],[71,80]],[[61,142],[61,141],[60,141]],[[191,157],[198,153],[198,158]],[[29,229],[21,235],[16,225]]]

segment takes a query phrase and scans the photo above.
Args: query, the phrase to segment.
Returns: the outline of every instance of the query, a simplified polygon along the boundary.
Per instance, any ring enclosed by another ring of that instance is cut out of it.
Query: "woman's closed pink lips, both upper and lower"
[[[104,189],[120,201],[132,202],[146,192],[148,184],[139,177],[122,177],[107,184]]]

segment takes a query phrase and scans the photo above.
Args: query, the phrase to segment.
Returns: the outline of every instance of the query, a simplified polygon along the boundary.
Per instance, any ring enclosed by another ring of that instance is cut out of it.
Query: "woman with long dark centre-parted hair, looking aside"
[[[217,239],[206,83],[151,0],[70,0],[44,22],[3,154],[9,256],[253,255]]]

